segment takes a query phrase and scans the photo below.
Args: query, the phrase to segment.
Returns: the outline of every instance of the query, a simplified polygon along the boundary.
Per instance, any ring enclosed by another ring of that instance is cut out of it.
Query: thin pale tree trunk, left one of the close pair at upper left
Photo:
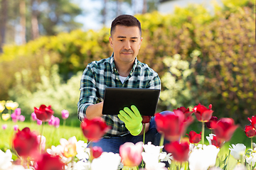
[[[20,25],[21,25],[21,44],[26,43],[26,1],[20,0]]]

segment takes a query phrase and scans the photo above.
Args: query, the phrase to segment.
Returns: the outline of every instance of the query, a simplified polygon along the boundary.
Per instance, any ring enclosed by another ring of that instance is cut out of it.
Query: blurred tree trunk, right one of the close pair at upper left
[[[32,27],[32,39],[35,40],[39,37],[39,28],[38,28],[38,6],[41,3],[40,0],[31,0],[31,27]]]

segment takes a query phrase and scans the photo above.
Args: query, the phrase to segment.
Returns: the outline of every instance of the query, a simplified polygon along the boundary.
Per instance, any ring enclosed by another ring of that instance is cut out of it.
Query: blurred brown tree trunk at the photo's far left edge
[[[1,0],[0,53],[3,52],[2,47],[4,46],[4,42],[5,42],[7,9],[8,9],[7,0]]]

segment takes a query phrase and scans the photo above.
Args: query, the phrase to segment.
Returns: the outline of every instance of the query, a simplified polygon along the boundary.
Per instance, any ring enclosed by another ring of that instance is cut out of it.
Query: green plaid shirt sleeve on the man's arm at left
[[[80,81],[80,98],[78,101],[78,119],[82,122],[86,118],[86,109],[88,106],[97,102],[97,89],[95,73],[92,72],[90,65],[87,65],[82,73]]]

